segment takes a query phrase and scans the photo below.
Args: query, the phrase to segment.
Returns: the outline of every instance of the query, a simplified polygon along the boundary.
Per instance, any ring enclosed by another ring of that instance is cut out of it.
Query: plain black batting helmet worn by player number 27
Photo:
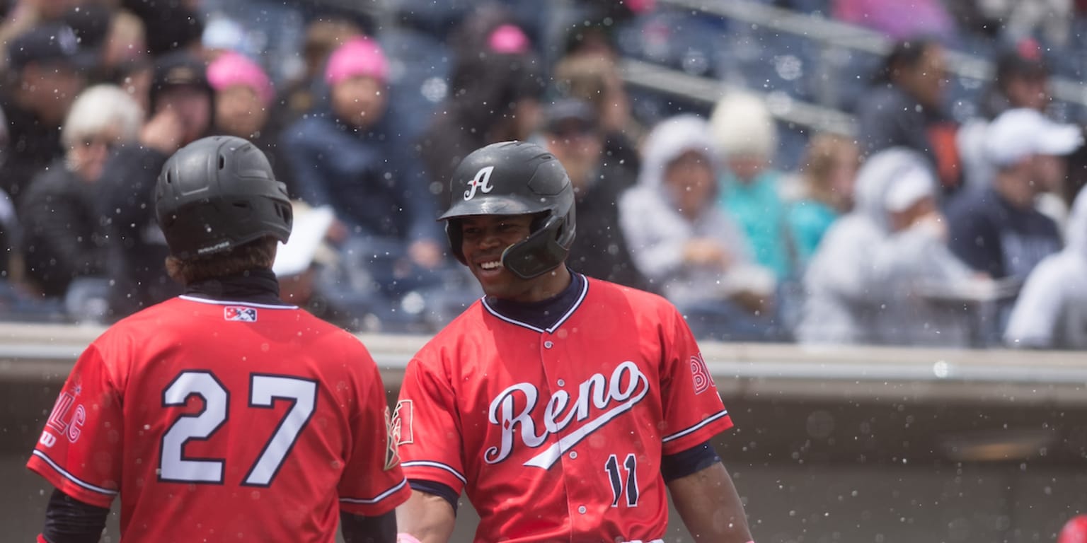
[[[286,242],[292,220],[286,186],[264,153],[233,136],[177,150],[154,191],[159,227],[178,258],[202,256],[272,236]]]

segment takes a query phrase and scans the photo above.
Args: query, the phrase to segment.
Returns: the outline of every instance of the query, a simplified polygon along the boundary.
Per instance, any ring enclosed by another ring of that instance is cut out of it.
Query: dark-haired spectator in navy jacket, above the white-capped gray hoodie
[[[857,108],[862,153],[905,147],[933,164],[945,191],[960,185],[958,127],[945,108],[947,61],[944,46],[926,38],[899,41]]]

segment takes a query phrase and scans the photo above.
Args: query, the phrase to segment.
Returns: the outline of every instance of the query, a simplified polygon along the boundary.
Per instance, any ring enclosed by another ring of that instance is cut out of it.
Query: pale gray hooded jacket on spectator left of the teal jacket
[[[694,220],[679,213],[664,186],[664,173],[673,161],[688,151],[710,161],[714,177],[721,172],[707,122],[696,115],[678,115],[660,123],[644,144],[637,186],[619,201],[620,226],[630,255],[654,289],[675,304],[704,301],[714,293],[729,293],[728,277],[716,266],[695,266],[684,262],[684,247],[696,238],[713,239],[732,257],[732,266],[750,262],[747,239],[739,227],[715,205],[714,199]]]

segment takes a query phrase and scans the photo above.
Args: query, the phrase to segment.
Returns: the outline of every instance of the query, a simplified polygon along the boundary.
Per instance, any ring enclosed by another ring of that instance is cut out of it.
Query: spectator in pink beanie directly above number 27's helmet
[[[275,88],[264,70],[240,53],[223,51],[208,64],[208,83],[215,89],[215,134],[245,138],[264,151],[276,179],[291,192],[295,182],[279,134],[268,123]]]

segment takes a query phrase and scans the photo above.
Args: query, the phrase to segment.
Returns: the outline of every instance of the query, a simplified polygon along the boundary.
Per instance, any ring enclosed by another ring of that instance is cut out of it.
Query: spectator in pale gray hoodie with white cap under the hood
[[[804,276],[801,343],[967,344],[974,315],[942,300],[985,280],[949,251],[936,187],[915,151],[891,148],[865,162],[854,210],[830,227]]]

